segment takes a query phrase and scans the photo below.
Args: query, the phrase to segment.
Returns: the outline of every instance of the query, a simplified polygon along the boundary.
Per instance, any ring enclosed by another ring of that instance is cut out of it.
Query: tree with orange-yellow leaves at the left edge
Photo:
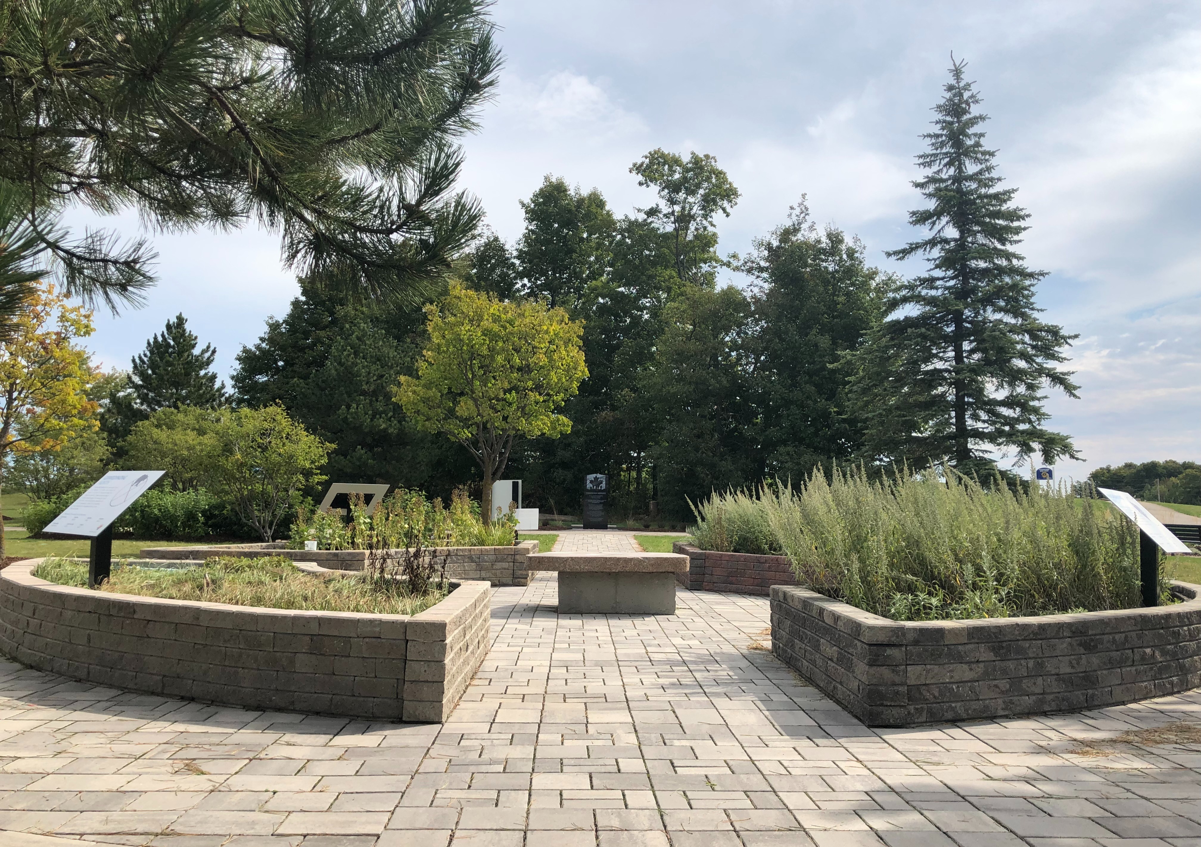
[[[68,305],[48,283],[37,287],[10,324],[0,344],[0,486],[10,457],[59,450],[96,431],[97,403],[86,395],[95,371],[76,343],[91,332],[91,312]]]

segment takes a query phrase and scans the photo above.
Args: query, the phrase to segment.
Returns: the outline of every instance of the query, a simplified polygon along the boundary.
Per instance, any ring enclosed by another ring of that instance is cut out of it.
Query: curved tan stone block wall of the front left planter
[[[442,721],[488,653],[486,582],[416,615],[160,600],[0,571],[0,651],[97,685],[252,709]]]

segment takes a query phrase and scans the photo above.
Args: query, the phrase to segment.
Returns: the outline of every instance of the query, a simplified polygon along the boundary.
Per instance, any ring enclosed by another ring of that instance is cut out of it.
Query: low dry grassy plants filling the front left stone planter
[[[88,565],[47,559],[37,566],[34,576],[59,585],[84,588],[88,584]],[[100,590],[232,606],[369,614],[417,614],[447,596],[447,590],[438,589],[420,595],[410,594],[401,582],[360,573],[303,573],[291,559],[283,557],[225,557],[209,559],[196,567],[179,569],[114,563],[112,577]]]

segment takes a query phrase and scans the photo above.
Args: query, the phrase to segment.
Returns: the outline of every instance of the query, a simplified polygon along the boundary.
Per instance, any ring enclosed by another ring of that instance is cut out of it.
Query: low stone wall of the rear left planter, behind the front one
[[[527,585],[527,557],[538,552],[537,541],[522,541],[516,547],[438,547],[447,557],[447,576],[452,579],[486,579],[494,585]],[[390,551],[398,555],[399,551]],[[199,547],[147,547],[147,559],[207,559],[211,555],[282,555],[294,561],[313,561],[337,571],[362,571],[368,560],[365,549],[285,549],[281,542],[262,545],[209,545]]]

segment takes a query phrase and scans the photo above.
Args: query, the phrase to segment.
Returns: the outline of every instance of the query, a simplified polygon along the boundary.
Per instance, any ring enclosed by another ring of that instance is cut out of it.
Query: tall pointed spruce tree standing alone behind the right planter
[[[931,205],[909,222],[931,234],[888,253],[928,256],[928,272],[894,287],[890,317],[848,358],[867,449],[877,459],[948,457],[964,470],[1009,451],[1076,458],[1068,435],[1045,428],[1042,407],[1048,385],[1076,396],[1071,373],[1056,367],[1076,336],[1039,318],[1034,286],[1046,274],[1014,250],[1029,215],[1014,205],[1016,188],[999,187],[964,66],[952,59],[934,131],[922,136],[930,150],[918,156],[930,173],[913,185]]]

